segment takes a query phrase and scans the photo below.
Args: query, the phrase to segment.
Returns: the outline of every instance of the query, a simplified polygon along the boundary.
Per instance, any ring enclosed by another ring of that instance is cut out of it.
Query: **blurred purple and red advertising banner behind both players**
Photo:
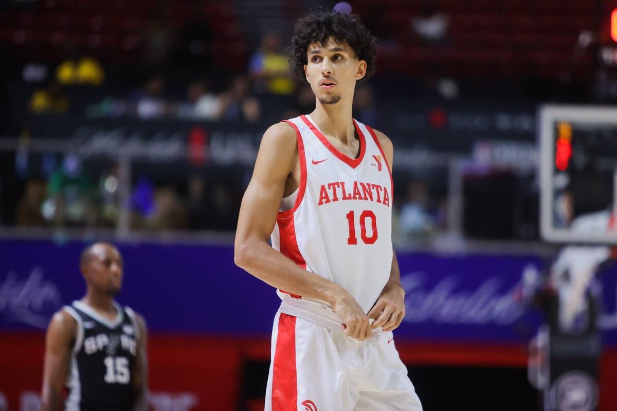
[[[83,296],[79,256],[85,246],[0,242],[1,411],[40,409],[44,328],[53,312]],[[117,299],[143,314],[149,327],[151,409],[249,409],[253,400],[242,394],[240,381],[247,362],[268,360],[280,304],[273,288],[236,267],[231,246],[118,248],[125,277]],[[398,258],[407,309],[395,337],[404,361],[524,366],[524,347],[540,317],[517,296],[523,279],[550,260],[402,251]],[[617,346],[617,269],[601,279],[600,327],[610,355]],[[612,361],[603,368],[605,386],[614,381],[606,374]],[[263,409],[261,394],[255,401],[251,409]]]

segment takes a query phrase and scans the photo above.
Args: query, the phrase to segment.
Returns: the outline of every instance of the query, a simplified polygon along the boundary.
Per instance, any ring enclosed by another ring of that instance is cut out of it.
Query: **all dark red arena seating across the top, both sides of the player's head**
[[[410,20],[424,10],[422,2],[363,0],[353,6],[363,18],[379,8],[379,26],[394,40],[381,49],[380,70],[407,74],[436,67],[441,75],[555,78],[573,63],[579,33],[597,30],[594,7],[586,0],[444,0],[435,10],[449,19],[447,41],[436,46],[423,43],[410,29]],[[242,70],[251,30],[239,24],[241,13],[231,2],[207,0],[199,7],[215,35],[217,66]],[[157,9],[149,0],[41,0],[33,9],[0,14],[0,43],[18,56],[54,61],[62,57],[65,39],[71,39],[106,62],[131,62],[144,28],[157,15],[165,15],[171,28],[179,30],[193,13],[188,1]],[[591,60],[590,53],[582,55],[578,71],[584,75]]]

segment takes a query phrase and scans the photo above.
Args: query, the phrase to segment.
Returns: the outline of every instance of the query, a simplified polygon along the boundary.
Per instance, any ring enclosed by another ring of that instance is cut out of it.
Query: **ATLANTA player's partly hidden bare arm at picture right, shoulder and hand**
[[[394,157],[394,148],[392,141],[381,131],[375,131],[375,135],[384,150],[386,161],[392,170],[392,157]],[[392,331],[399,327],[405,317],[405,290],[400,285],[399,262],[396,259],[396,253],[392,250],[392,267],[390,269],[390,278],[385,287],[381,291],[371,311],[368,312],[368,317],[375,319],[372,328],[382,327],[384,331]]]

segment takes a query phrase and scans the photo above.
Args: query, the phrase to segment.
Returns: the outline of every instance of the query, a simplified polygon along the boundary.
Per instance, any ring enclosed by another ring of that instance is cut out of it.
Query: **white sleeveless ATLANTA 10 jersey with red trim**
[[[294,206],[278,214],[272,246],[344,287],[368,313],[392,266],[393,186],[381,145],[373,129],[354,120],[360,155],[352,159],[328,142],[309,115],[286,121],[296,129],[300,186]]]

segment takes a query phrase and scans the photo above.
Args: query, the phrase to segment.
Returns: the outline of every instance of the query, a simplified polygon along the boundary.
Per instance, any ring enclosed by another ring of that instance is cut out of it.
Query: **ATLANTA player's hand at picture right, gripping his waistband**
[[[368,312],[368,318],[375,320],[371,327],[392,331],[399,327],[403,317],[405,317],[405,290],[400,283],[388,282]]]

